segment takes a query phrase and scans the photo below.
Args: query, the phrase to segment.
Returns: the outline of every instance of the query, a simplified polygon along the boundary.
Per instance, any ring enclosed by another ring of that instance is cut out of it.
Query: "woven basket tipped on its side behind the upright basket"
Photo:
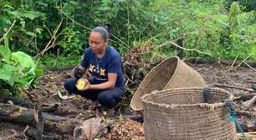
[[[131,108],[141,111],[141,97],[154,90],[206,86],[206,82],[197,71],[182,62],[179,57],[171,57],[152,68],[146,75],[131,99]]]

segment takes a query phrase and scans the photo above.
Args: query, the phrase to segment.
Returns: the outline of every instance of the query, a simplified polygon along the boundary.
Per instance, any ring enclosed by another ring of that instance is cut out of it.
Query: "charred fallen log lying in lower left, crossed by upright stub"
[[[56,133],[73,133],[76,126],[82,121],[74,118],[59,117],[42,112],[44,130]],[[27,107],[0,103],[0,122],[23,123],[29,126],[36,126],[34,110]]]

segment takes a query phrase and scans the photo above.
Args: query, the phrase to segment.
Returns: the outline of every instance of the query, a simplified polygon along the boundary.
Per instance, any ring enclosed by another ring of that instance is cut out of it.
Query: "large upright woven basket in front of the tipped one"
[[[212,103],[204,103],[202,88],[176,88],[141,97],[146,140],[233,140],[236,128],[228,120],[223,100],[229,92],[210,88]]]

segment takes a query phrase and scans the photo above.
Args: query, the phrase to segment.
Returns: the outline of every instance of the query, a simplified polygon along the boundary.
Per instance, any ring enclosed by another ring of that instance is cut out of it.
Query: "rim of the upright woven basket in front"
[[[167,109],[174,109],[175,107],[210,107],[210,108],[215,108],[215,107],[221,107],[225,104],[225,102],[214,102],[214,103],[206,103],[206,102],[201,102],[201,103],[195,103],[195,104],[166,104],[166,103],[157,103],[157,102],[152,102],[148,101],[146,97],[150,97],[152,95],[159,95],[159,93],[162,92],[170,92],[170,91],[186,91],[186,90],[202,90],[203,87],[181,87],[181,88],[173,88],[173,89],[165,89],[161,91],[153,91],[151,93],[145,94],[141,97],[141,101],[143,103],[148,103],[151,104],[152,106],[155,107],[164,107]],[[218,87],[210,87],[210,90],[217,90],[218,92],[226,92],[228,93],[228,98],[233,100],[233,94],[231,92],[228,92],[227,90],[223,88],[218,88]]]

